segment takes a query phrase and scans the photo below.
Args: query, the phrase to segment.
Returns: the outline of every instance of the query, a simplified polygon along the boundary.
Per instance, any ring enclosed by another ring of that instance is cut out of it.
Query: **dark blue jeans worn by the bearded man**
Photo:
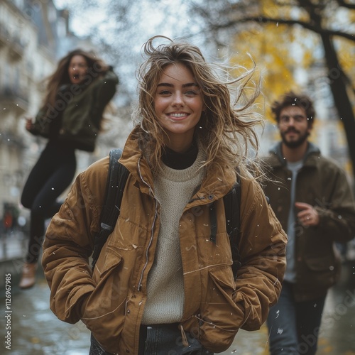
[[[292,283],[283,282],[278,303],[271,307],[267,320],[271,355],[316,353],[326,296],[296,302]]]

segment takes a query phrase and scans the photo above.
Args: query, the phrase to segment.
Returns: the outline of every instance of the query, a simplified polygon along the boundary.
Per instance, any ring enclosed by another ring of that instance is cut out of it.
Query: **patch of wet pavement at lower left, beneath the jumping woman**
[[[53,315],[48,307],[49,288],[43,278],[34,288],[18,290],[14,287],[13,293],[9,354],[88,354],[89,331],[81,322],[66,324]],[[2,305],[4,309],[5,300],[2,300]],[[5,327],[6,324],[1,327],[2,332]],[[1,354],[6,354],[4,350],[6,348],[1,349]]]

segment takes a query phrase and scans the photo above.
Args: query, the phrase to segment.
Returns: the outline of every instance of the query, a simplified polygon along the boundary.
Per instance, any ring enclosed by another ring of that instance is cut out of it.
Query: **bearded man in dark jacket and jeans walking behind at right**
[[[308,141],[312,101],[288,92],[272,111],[282,141],[265,163],[264,191],[288,234],[287,268],[278,303],[268,316],[271,355],[315,354],[327,290],[337,282],[334,244],[355,235],[351,188],[337,163]]]

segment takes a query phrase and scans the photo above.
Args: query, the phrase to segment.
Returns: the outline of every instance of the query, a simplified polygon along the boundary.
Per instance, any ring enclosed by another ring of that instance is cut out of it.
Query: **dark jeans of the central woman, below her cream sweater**
[[[182,344],[178,323],[141,326],[138,355],[213,355],[200,342],[185,333],[189,346]],[[92,336],[89,355],[109,355]]]

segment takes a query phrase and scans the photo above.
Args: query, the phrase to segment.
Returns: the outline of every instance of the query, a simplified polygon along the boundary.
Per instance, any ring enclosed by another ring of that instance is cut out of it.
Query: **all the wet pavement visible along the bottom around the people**
[[[6,303],[6,290],[0,288],[0,309],[3,310],[0,334],[4,339],[6,326],[11,327],[11,350],[6,349],[9,338],[5,338],[0,354],[88,354],[89,330],[81,322],[66,324],[53,315],[49,310],[50,291],[41,271],[34,288],[18,289],[18,261],[18,258],[8,260],[1,268],[0,277],[4,279],[1,283],[6,281],[6,270],[11,273],[11,302],[8,299]],[[266,326],[257,332],[240,331],[230,349],[221,354],[268,355]],[[317,352],[317,355],[323,354],[355,355],[355,261],[344,263],[340,282],[329,290]]]

